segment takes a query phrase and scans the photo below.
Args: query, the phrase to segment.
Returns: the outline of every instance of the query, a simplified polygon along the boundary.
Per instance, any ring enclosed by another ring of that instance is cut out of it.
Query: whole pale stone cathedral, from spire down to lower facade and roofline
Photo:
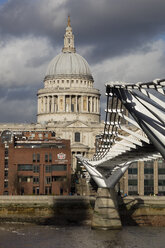
[[[52,131],[57,138],[69,139],[72,170],[76,154],[92,158],[95,137],[103,131],[100,120],[100,93],[87,61],[76,53],[74,35],[68,17],[64,47],[49,63],[44,87],[38,91],[37,123],[0,124],[0,131]]]

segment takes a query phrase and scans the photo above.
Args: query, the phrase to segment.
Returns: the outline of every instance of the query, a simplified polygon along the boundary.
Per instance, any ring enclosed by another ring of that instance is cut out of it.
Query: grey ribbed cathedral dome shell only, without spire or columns
[[[78,76],[92,80],[87,61],[75,52],[62,52],[58,54],[48,65],[46,78],[59,78]]]

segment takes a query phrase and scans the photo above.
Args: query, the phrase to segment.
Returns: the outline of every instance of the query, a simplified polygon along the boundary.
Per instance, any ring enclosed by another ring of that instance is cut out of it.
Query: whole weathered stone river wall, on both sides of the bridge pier
[[[95,197],[0,196],[0,222],[91,225]],[[165,226],[164,196],[118,198],[122,225]]]

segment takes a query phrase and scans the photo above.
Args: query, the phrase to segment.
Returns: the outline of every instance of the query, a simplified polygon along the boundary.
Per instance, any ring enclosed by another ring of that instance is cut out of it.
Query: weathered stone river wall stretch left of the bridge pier
[[[90,224],[94,202],[80,196],[0,196],[0,221]]]

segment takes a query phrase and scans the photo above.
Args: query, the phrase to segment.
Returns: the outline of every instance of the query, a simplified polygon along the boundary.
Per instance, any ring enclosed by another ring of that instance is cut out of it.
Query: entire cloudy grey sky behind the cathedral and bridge
[[[0,122],[35,122],[37,90],[68,14],[95,87],[165,78],[163,0],[0,0]]]

